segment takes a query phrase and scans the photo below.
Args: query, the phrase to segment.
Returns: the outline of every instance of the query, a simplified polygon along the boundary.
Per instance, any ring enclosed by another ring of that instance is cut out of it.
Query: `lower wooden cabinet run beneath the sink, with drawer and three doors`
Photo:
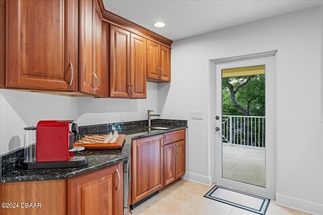
[[[131,204],[185,174],[185,129],[132,140]]]

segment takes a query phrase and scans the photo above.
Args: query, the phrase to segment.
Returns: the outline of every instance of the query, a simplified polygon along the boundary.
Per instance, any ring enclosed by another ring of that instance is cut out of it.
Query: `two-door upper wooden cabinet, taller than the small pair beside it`
[[[146,39],[110,25],[110,96],[146,98]]]

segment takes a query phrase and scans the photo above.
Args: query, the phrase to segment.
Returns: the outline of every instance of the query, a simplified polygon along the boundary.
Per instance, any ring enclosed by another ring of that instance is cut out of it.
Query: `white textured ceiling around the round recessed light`
[[[115,13],[173,41],[323,5],[323,0],[103,0]],[[155,28],[153,23],[166,27]]]

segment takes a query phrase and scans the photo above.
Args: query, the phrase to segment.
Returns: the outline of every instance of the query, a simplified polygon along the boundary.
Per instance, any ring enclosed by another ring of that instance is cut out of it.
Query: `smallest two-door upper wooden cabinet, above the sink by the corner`
[[[147,40],[147,81],[171,82],[171,49]]]

